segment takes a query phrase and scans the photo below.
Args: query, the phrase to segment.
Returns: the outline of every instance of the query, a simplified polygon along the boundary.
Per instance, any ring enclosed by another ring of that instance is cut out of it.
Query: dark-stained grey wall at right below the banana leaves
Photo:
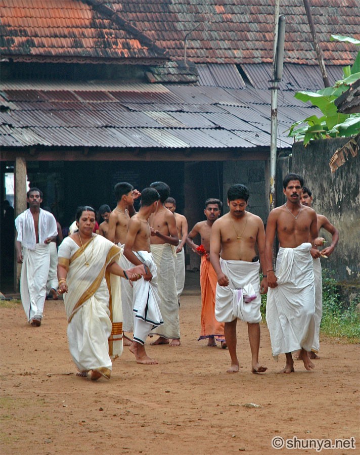
[[[306,148],[296,143],[292,148],[291,172],[304,177],[312,191],[312,207],[328,217],[340,233],[339,243],[323,267],[335,271],[338,281],[360,279],[360,156],[349,160],[331,173],[329,161],[335,150],[348,142],[347,138],[313,142]],[[321,231],[331,242],[331,236]]]

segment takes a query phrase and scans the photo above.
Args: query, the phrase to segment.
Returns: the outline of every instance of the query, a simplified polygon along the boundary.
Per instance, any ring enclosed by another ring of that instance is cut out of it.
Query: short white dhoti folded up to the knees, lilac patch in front
[[[220,266],[229,279],[229,286],[216,285],[216,320],[229,323],[239,318],[250,324],[259,323],[261,321],[259,261],[247,262],[220,258]],[[249,287],[252,289],[252,295],[247,299],[246,292],[239,291]],[[239,295],[241,295],[240,299]]]

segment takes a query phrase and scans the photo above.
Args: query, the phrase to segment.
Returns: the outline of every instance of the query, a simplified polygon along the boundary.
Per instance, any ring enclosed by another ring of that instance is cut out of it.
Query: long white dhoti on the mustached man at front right
[[[269,288],[266,322],[273,356],[301,348],[310,351],[314,337],[315,287],[311,244],[280,248],[278,286]]]

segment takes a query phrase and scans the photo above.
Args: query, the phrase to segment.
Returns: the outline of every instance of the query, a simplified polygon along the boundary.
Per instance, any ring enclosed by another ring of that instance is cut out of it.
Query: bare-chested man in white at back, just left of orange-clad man
[[[167,198],[164,202],[164,206],[170,210],[175,216],[177,236],[179,238],[179,244],[176,248],[175,258],[175,276],[176,276],[176,292],[177,302],[180,306],[180,296],[183,292],[185,285],[185,251],[184,246],[186,244],[186,237],[188,235],[188,221],[184,215],[176,213],[176,201],[174,198]]]

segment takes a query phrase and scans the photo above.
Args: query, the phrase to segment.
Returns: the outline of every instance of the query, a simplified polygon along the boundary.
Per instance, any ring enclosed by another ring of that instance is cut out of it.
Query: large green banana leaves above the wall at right
[[[360,45],[360,41],[348,36],[331,35],[331,40],[351,42]],[[352,66],[343,68],[343,79],[338,80],[332,87],[326,87],[318,92],[297,92],[295,98],[304,103],[308,101],[318,107],[323,115],[300,120],[291,125],[289,136],[295,142],[303,141],[306,146],[311,140],[339,138],[360,133],[360,114],[341,114],[337,112],[335,100],[345,92],[350,84],[360,79],[360,52],[357,53]]]

